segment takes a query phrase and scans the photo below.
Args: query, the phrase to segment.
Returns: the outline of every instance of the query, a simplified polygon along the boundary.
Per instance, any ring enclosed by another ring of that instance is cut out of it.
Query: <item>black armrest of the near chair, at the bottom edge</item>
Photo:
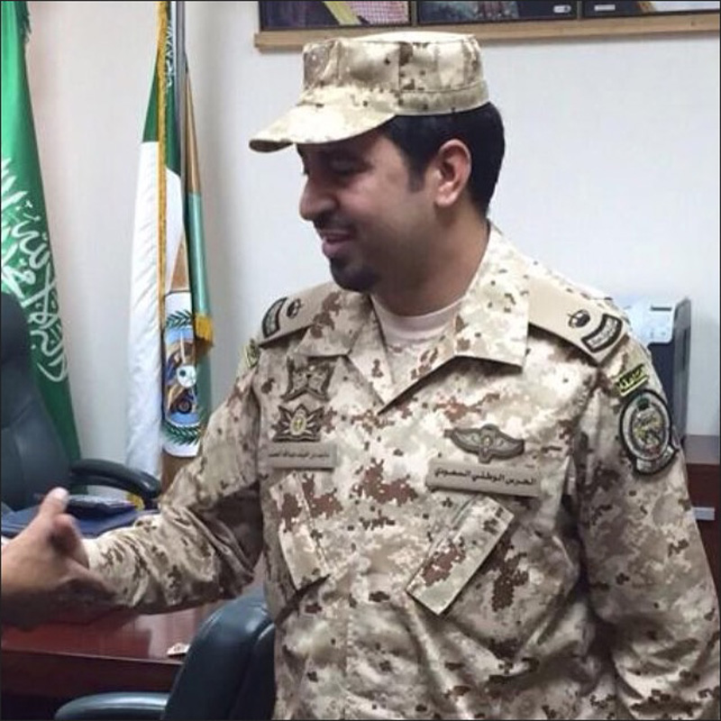
[[[117,691],[81,696],[68,701],[55,712],[55,721],[135,721],[160,719],[168,703],[167,693]]]

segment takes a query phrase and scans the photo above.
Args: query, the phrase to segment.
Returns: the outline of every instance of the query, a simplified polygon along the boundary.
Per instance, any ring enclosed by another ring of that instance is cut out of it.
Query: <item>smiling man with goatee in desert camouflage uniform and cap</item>
[[[160,610],[240,593],[262,553],[278,717],[717,714],[661,385],[614,306],[489,224],[478,44],[388,33],[304,63],[251,148],[297,146],[335,282],[270,306],[201,456],[90,568]]]

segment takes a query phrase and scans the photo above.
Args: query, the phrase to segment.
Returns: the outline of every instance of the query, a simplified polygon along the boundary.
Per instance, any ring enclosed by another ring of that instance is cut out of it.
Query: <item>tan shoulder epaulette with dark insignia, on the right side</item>
[[[529,323],[563,338],[602,364],[623,341],[628,325],[612,304],[558,280],[531,278]]]

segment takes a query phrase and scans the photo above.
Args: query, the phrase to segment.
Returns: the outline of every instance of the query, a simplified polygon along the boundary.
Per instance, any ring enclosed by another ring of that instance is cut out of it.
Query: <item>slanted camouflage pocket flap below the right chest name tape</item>
[[[406,592],[434,614],[442,614],[488,558],[513,517],[493,498],[472,499],[448,533],[434,543]]]

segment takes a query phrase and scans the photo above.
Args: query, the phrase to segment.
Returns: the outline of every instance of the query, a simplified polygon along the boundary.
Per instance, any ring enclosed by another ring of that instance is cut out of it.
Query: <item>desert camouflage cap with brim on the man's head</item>
[[[447,114],[488,103],[478,41],[453,32],[382,32],[310,42],[303,92],[258,132],[254,151],[340,141],[396,115]]]

